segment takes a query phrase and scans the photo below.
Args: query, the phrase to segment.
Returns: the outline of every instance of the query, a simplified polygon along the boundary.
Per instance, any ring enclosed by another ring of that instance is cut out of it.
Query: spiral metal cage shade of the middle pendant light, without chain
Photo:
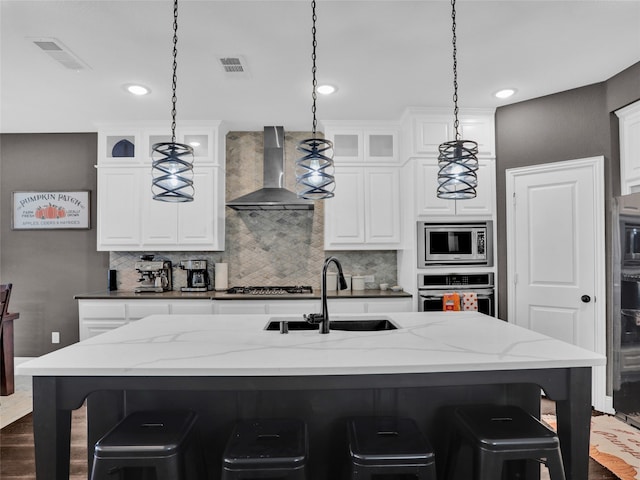
[[[296,160],[296,193],[299,198],[322,200],[334,196],[333,143],[308,138],[298,143],[302,156]]]

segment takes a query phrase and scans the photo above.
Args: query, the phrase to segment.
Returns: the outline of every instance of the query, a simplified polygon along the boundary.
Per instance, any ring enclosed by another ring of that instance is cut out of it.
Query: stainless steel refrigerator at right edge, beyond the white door
[[[616,415],[640,428],[640,193],[616,198],[612,220],[608,387]]]

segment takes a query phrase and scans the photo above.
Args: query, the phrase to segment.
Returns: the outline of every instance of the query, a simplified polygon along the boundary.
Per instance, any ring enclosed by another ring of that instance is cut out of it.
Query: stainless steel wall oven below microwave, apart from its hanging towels
[[[495,285],[493,273],[449,273],[418,275],[418,310],[443,310],[445,293],[474,292],[478,298],[478,311],[495,316]]]

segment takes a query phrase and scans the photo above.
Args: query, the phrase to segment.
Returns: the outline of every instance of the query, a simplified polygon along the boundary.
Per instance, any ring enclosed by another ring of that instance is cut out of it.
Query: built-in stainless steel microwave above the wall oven
[[[493,265],[492,222],[418,222],[418,268]]]

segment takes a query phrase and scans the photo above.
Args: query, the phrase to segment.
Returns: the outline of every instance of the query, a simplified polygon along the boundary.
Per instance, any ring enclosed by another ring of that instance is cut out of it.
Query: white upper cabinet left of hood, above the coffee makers
[[[224,250],[224,136],[219,122],[185,124],[176,141],[194,149],[194,200],[153,200],[151,156],[171,141],[159,126],[98,132],[98,250]],[[124,156],[123,156],[124,155]]]

